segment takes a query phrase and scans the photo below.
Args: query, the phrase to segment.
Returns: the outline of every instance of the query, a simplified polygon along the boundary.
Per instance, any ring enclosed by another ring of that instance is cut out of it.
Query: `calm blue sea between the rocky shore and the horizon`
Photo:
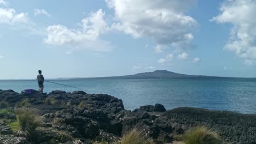
[[[162,104],[167,110],[188,106],[240,113],[256,113],[256,79],[143,79],[143,80],[51,80],[103,93],[123,100],[125,109]],[[0,81],[0,89],[38,89],[37,81]],[[75,88],[45,82],[44,92],[77,91]]]

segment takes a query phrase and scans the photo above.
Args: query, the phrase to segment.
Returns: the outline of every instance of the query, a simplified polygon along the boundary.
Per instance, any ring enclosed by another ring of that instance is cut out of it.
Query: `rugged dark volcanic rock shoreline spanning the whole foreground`
[[[54,99],[56,104],[45,105],[46,98]],[[63,140],[63,133],[83,143],[91,143],[91,140],[111,143],[134,127],[142,129],[155,143],[171,143],[176,135],[203,125],[216,131],[223,143],[256,144],[255,114],[190,107],[166,111],[160,104],[130,111],[124,109],[122,100],[107,94],[53,91],[44,95],[0,90],[0,101],[7,101],[10,110],[24,99],[30,101],[31,109],[38,109],[44,122],[37,130],[36,143],[53,143],[53,140],[74,143]],[[78,107],[81,101],[84,101],[84,106]],[[15,115],[0,113],[0,143],[28,143],[25,137],[18,136],[10,129],[5,119],[15,119]]]

